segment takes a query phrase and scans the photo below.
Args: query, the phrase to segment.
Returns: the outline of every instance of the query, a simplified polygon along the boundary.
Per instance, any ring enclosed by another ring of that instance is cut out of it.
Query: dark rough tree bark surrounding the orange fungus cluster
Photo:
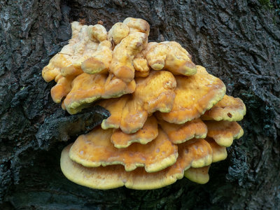
[[[279,1],[0,2],[0,209],[280,208]],[[147,20],[150,40],[181,43],[246,104],[244,137],[204,186],[182,179],[159,190],[92,190],[60,172],[62,148],[108,113],[67,115],[41,69],[71,37],[71,21],[109,29],[127,17]]]

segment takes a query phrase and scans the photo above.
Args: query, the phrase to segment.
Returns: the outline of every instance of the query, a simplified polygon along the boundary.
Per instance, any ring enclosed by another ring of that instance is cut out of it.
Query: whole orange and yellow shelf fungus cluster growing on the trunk
[[[212,162],[243,135],[241,99],[195,65],[174,41],[148,43],[150,27],[127,18],[107,32],[73,22],[68,45],[42,75],[54,102],[75,114],[99,104],[111,116],[62,151],[71,181],[97,189],[162,188],[183,176],[209,181]]]

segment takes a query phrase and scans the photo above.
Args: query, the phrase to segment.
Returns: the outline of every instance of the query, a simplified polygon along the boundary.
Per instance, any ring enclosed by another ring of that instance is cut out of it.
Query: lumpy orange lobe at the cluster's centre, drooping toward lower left
[[[167,113],[172,109],[176,87],[172,73],[153,71],[146,78],[137,78],[136,83],[134,93],[130,97],[125,97],[126,102],[125,99],[111,99],[115,100],[115,103],[120,103],[123,109],[117,108],[118,111],[114,111],[116,109],[114,106],[104,106],[111,112],[111,116],[102,122],[103,129],[120,127],[126,134],[131,134],[140,130],[148,116],[155,111]],[[102,102],[99,105],[102,106]],[[111,118],[118,121],[115,120],[111,124]]]

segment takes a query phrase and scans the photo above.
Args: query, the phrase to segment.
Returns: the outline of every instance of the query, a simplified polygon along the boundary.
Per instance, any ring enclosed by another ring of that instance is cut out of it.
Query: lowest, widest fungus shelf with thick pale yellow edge
[[[182,179],[190,167],[204,167],[211,163],[211,147],[204,139],[179,144],[179,157],[174,165],[159,172],[148,173],[144,168],[126,172],[122,165],[84,167],[69,158],[71,144],[62,151],[60,166],[67,179],[94,189],[112,189],[121,186],[135,190],[152,190],[168,186]],[[202,148],[199,155],[197,148]],[[193,158],[192,158],[193,157]]]

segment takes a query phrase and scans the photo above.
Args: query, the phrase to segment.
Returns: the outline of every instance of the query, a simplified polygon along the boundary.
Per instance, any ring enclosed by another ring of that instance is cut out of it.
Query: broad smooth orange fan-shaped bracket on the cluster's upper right
[[[177,87],[174,105],[169,113],[157,113],[168,123],[183,124],[199,118],[225,95],[225,84],[197,66],[193,76],[176,76]]]

